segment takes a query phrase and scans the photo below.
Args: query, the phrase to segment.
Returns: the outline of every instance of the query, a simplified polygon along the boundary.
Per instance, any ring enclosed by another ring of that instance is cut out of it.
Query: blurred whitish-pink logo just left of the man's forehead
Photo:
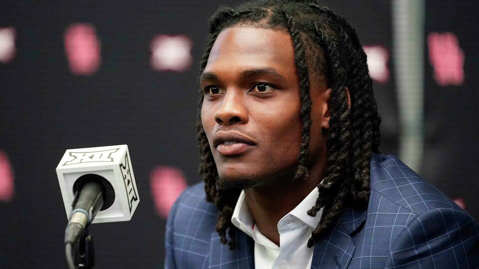
[[[191,39],[186,35],[157,35],[150,43],[151,68],[158,71],[185,71],[190,68]]]

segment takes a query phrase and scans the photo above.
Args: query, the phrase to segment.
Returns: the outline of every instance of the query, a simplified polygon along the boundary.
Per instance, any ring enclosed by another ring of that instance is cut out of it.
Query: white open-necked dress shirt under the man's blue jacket
[[[311,232],[321,220],[323,209],[311,217],[307,211],[316,204],[314,188],[291,212],[278,222],[279,247],[267,239],[254,225],[249,207],[241,191],[231,222],[254,240],[254,267],[257,269],[309,269],[313,248],[308,248]]]

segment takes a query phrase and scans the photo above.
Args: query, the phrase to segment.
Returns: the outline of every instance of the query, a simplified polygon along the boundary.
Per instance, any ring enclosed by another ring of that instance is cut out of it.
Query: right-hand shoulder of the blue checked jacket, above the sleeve
[[[370,169],[372,192],[416,215],[437,208],[464,211],[393,155],[373,154]]]

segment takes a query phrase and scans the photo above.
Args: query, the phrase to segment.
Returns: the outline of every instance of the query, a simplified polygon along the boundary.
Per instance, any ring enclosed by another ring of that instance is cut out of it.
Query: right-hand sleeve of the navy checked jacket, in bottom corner
[[[478,231],[478,223],[464,211],[427,211],[398,236],[386,268],[478,268]]]

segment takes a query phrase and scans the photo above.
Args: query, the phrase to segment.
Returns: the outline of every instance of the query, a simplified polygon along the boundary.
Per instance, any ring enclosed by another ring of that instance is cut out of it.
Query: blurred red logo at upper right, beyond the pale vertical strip
[[[464,83],[464,52],[458,37],[450,32],[428,35],[429,61],[434,79],[441,86],[460,86]]]

